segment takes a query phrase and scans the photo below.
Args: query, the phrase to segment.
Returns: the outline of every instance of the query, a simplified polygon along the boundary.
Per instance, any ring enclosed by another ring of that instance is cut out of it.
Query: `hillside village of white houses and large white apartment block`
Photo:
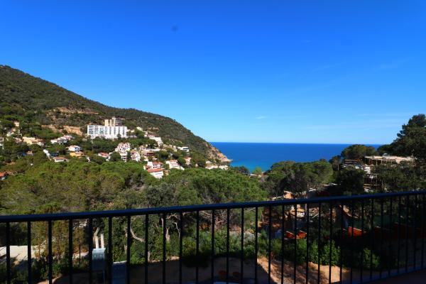
[[[6,137],[0,137],[0,147],[4,148],[5,141],[26,145],[28,149],[25,149],[28,151],[23,151],[22,156],[33,155],[32,147],[42,148],[43,153],[55,163],[66,163],[71,158],[85,159],[88,162],[99,159],[105,162],[133,161],[141,163],[143,169],[158,179],[168,175],[170,170],[185,170],[185,168],[190,167],[220,168],[222,170],[229,168],[226,161],[215,163],[210,160],[194,160],[192,158],[193,153],[188,146],[166,144],[160,136],[155,136],[155,133],[145,131],[139,126],[136,126],[135,129],[129,129],[123,124],[123,119],[114,116],[111,119],[105,119],[103,125],[88,124],[87,133],[83,137],[78,137],[75,133],[72,133],[72,135],[65,133],[50,140],[36,136],[28,137],[21,134],[20,126],[20,121],[13,121],[13,127],[4,131]],[[75,143],[77,141],[84,141],[85,143],[109,141],[115,143],[116,146],[114,151],[109,152],[87,151],[83,146]],[[94,157],[94,155],[96,156]],[[0,178],[6,177],[7,173],[1,173]]]

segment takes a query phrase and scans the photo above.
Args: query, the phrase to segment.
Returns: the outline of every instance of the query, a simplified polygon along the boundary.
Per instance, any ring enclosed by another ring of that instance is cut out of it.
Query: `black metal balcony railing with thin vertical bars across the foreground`
[[[425,195],[1,216],[0,281],[366,283],[424,268]]]

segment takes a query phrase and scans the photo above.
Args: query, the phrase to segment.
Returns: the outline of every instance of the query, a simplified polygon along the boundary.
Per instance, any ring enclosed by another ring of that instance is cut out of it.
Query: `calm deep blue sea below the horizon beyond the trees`
[[[351,144],[299,144],[299,143],[229,143],[212,142],[228,158],[231,165],[244,165],[249,170],[261,167],[269,170],[273,163],[282,160],[295,162],[311,162],[324,158],[329,160],[339,155],[342,150]],[[378,147],[380,145],[370,145]]]

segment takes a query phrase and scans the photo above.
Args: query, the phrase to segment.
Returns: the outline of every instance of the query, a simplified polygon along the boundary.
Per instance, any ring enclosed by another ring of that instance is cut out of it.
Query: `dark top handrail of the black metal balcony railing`
[[[398,197],[408,195],[424,195],[426,190],[412,190],[405,192],[386,192],[375,193],[371,195],[350,195],[350,196],[337,196],[337,197],[316,197],[304,199],[288,199],[288,200],[266,200],[256,202],[229,202],[220,204],[196,204],[185,206],[173,207],[147,207],[138,209],[120,209],[120,210],[103,210],[103,211],[89,211],[89,212],[64,212],[64,213],[48,213],[48,214],[21,214],[21,215],[2,215],[0,216],[0,223],[7,222],[44,222],[44,221],[58,221],[69,219],[93,219],[105,217],[128,217],[146,214],[168,214],[172,212],[197,212],[208,210],[220,209],[236,209],[247,207],[269,207],[280,205],[292,204],[315,204],[323,202],[346,202],[351,200],[371,200],[380,199],[383,197]]]

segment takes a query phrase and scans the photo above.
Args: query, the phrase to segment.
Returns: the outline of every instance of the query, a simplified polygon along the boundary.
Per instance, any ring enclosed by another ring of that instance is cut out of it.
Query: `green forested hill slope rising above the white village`
[[[67,131],[80,129],[82,133],[89,123],[99,124],[117,116],[130,128],[141,126],[161,136],[166,143],[189,146],[210,158],[219,155],[216,148],[173,119],[137,109],[108,107],[5,65],[0,65],[0,104],[11,115],[18,111],[42,125],[65,127]]]

